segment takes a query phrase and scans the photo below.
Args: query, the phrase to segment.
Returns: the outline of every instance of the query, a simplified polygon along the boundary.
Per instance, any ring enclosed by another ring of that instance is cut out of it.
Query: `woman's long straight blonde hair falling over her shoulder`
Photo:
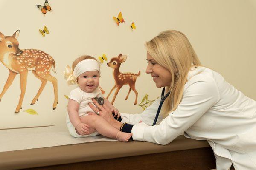
[[[200,66],[201,62],[188,38],[180,31],[163,31],[146,42],[145,46],[148,54],[172,75],[171,85],[166,87],[165,92],[170,91],[170,95],[161,110],[161,114],[166,117],[177,108],[183,98],[184,85],[191,66]]]

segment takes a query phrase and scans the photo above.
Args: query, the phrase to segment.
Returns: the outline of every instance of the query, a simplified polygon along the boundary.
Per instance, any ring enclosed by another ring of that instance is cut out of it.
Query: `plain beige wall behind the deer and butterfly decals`
[[[120,71],[141,75],[137,78],[138,101],[148,93],[150,99],[160,94],[150,75],[145,74],[146,51],[144,42],[160,31],[176,29],[189,38],[203,65],[218,71],[227,82],[250,98],[256,99],[256,3],[253,0],[49,0],[51,12],[41,14],[37,4],[44,0],[0,1],[0,31],[12,35],[20,30],[20,49],[35,48],[50,54],[56,61],[58,102],[52,110],[53,88],[47,83],[39,101],[30,106],[41,82],[29,72],[23,110],[32,108],[38,115],[29,115],[15,108],[20,95],[19,76],[0,102],[0,128],[55,125],[64,123],[70,90],[62,76],[66,65],[76,57],[89,54],[98,57],[103,53],[108,59],[122,53],[128,55]],[[119,27],[112,16],[122,11],[126,23]],[[137,30],[131,31],[135,22]],[[50,34],[41,37],[39,28],[49,28]],[[0,64],[0,90],[8,77],[8,70]],[[112,68],[102,65],[100,85],[109,93],[114,85]],[[131,92],[124,100],[128,86],[116,97],[115,105],[121,112],[140,113],[134,106]],[[113,94],[110,99],[112,99]]]

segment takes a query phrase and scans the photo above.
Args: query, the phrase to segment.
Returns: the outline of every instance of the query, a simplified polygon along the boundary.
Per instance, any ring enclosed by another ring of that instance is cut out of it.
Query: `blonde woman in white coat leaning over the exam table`
[[[122,122],[113,119],[105,105],[94,101],[97,108],[90,107],[117,129],[133,133],[133,140],[164,145],[184,133],[209,142],[217,169],[229,170],[233,164],[238,170],[256,170],[256,101],[220,74],[202,67],[189,40],[179,31],[164,31],[145,46],[146,73],[157,88],[170,91],[157,125],[151,126],[160,99],[141,114],[121,113]]]

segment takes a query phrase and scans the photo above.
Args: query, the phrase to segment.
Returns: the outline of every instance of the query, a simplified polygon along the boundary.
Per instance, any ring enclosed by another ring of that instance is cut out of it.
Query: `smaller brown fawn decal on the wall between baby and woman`
[[[138,92],[135,89],[135,82],[136,82],[137,77],[140,76],[140,71],[139,71],[138,74],[134,74],[134,73],[120,73],[120,71],[119,71],[120,65],[121,65],[122,62],[125,62],[126,58],[127,58],[127,56],[123,56],[122,54],[120,54],[118,57],[113,57],[110,60],[110,62],[107,63],[108,67],[111,67],[111,68],[114,69],[113,70],[113,77],[115,79],[115,85],[111,89],[111,91],[109,92],[109,94],[107,96],[107,99],[110,96],[110,94],[112,93],[112,91],[115,88],[117,88],[116,92],[114,94],[114,97],[113,97],[113,99],[111,101],[112,105],[113,105],[113,103],[114,103],[114,101],[116,99],[116,95],[118,94],[120,88],[122,88],[123,85],[129,85],[130,86],[129,92],[128,92],[125,100],[128,99],[128,96],[129,96],[131,90],[133,90],[135,95],[136,95],[134,105],[137,104]]]

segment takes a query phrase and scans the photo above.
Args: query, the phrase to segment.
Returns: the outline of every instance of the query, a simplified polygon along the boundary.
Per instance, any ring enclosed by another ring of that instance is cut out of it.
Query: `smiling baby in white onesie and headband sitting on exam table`
[[[69,85],[78,84],[78,87],[73,89],[68,96],[67,128],[70,134],[77,138],[102,134],[109,138],[127,142],[132,133],[117,130],[101,116],[87,114],[88,112],[95,113],[88,103],[93,103],[92,99],[95,97],[102,97],[98,87],[99,62],[94,57],[82,56],[73,62],[72,68],[73,74],[71,70],[67,71],[68,77],[67,75],[65,77]],[[111,111],[115,112],[115,116],[117,114],[119,116],[119,111],[108,100],[104,99],[104,105],[111,108]]]

